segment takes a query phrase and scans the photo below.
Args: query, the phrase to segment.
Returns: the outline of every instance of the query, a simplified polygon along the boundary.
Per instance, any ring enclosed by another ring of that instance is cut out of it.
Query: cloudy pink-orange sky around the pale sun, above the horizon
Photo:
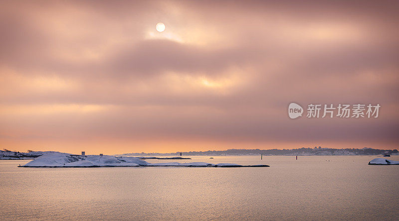
[[[398,149],[398,9],[398,1],[3,1],[0,148]],[[291,102],[381,110],[292,120]]]

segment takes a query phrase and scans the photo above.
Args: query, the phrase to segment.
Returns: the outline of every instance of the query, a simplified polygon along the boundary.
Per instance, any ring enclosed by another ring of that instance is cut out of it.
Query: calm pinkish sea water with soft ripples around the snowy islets
[[[270,167],[18,168],[29,160],[0,160],[0,219],[399,220],[399,165],[367,165],[376,156],[192,158],[147,161]]]

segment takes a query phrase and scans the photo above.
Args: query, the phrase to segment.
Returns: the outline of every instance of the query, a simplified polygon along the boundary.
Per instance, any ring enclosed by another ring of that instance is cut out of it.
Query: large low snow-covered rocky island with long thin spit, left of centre
[[[184,167],[268,167],[268,165],[239,165],[234,163],[149,163],[137,157],[126,156],[99,156],[87,155],[77,156],[67,153],[47,153],[19,167],[165,167],[165,166],[184,166]]]

